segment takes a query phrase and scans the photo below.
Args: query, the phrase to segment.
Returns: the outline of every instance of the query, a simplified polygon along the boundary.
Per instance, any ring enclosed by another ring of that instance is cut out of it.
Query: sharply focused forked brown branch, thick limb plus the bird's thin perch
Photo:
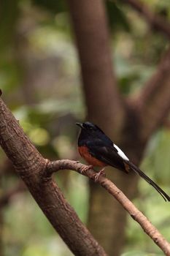
[[[73,208],[66,202],[61,190],[53,181],[52,174],[58,170],[81,170],[86,165],[71,160],[50,162],[28,140],[18,121],[12,116],[0,99],[0,144],[12,161],[18,175],[26,183],[29,191],[58,231],[63,241],[74,255],[106,256],[104,249],[97,243],[85,225],[82,224]],[[86,176],[94,179],[96,172],[90,169]],[[144,232],[157,244],[166,255],[170,255],[170,244],[148,219],[128,200],[112,181],[101,176],[98,184],[107,189],[126,211],[141,225]]]

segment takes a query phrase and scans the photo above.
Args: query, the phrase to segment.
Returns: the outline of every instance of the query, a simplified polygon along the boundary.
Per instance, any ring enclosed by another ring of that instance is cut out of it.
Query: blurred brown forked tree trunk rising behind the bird
[[[150,86],[157,86],[154,82],[155,78],[159,81],[163,79],[163,84],[158,85],[153,102],[153,108],[157,113],[154,118],[154,127],[152,131],[150,129],[150,134],[147,132],[146,135],[145,132],[144,136],[145,127],[150,127],[150,119],[144,118],[145,113],[150,116],[150,104],[142,105],[142,99],[140,100],[139,96],[140,106],[138,108],[137,101],[123,101],[117,89],[115,72],[112,68],[112,54],[109,49],[104,1],[68,0],[68,2],[80,56],[88,120],[104,129],[104,132],[128,154],[129,159],[139,165],[150,135],[167,116],[170,107],[170,99],[167,100],[170,97],[168,91],[169,61],[167,58],[163,60],[158,67],[158,72],[145,86],[144,90],[147,91]],[[154,84],[150,85],[151,83]],[[160,105],[163,100],[162,94],[159,97],[160,90],[163,91],[164,96],[166,95],[163,108]],[[151,94],[150,97],[152,97]],[[125,173],[109,167],[107,177],[113,180],[128,198],[131,199],[136,195],[138,177],[133,173],[126,176]],[[126,214],[123,208],[116,201],[113,202],[112,198],[97,184],[90,183],[88,227],[98,242],[104,246],[108,255],[120,255],[125,240],[125,223]]]

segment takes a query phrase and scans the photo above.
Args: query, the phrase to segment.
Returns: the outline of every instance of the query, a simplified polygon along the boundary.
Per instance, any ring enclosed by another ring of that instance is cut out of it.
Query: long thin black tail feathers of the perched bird
[[[132,162],[127,162],[127,164],[129,165],[129,167],[131,167],[131,170],[134,170],[135,173],[137,173],[139,176],[141,176],[142,178],[144,178],[145,181],[147,181],[147,183],[149,183],[152,187],[154,187],[158,193],[163,197],[163,199],[166,201],[170,201],[170,197],[169,195],[166,194],[166,192],[163,191],[163,189],[161,189],[161,187],[158,187],[157,184],[155,184],[154,181],[152,181],[152,179],[150,179],[146,174],[144,174],[142,172],[142,170],[140,170],[138,167],[136,167],[136,165],[134,165]]]

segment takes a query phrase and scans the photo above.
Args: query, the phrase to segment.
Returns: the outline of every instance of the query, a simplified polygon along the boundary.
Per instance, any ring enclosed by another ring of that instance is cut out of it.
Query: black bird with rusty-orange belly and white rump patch
[[[102,167],[95,174],[95,181],[98,181],[99,176],[105,176],[104,168],[107,165],[122,170],[124,173],[134,171],[154,187],[165,201],[170,201],[169,195],[161,187],[158,187],[139,167],[134,165],[123,151],[96,124],[92,124],[89,121],[76,124],[81,128],[78,138],[78,151],[80,156],[88,162],[88,166],[82,169],[82,173],[93,167]]]

